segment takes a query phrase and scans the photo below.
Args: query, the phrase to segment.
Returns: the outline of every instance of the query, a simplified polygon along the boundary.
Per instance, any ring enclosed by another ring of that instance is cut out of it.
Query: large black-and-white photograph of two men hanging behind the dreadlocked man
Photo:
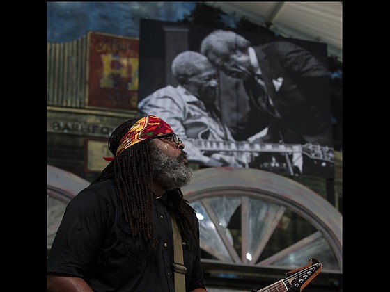
[[[141,19],[138,111],[201,167],[334,177],[327,47]]]

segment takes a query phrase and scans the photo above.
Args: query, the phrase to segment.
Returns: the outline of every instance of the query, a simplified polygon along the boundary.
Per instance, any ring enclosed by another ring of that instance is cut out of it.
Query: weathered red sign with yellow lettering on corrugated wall
[[[139,39],[88,33],[87,105],[137,109]]]

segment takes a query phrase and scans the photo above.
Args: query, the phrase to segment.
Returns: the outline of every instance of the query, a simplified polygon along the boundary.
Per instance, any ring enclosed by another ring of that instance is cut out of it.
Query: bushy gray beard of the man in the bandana
[[[150,145],[150,154],[153,166],[153,179],[164,186],[166,190],[174,190],[187,186],[194,177],[192,168],[183,163],[187,153],[182,151],[178,157],[172,157]]]

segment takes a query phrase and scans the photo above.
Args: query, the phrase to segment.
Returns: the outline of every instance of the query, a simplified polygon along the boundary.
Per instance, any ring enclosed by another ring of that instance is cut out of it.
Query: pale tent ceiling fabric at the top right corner
[[[327,44],[329,56],[343,59],[342,2],[204,2],[229,15],[246,17],[282,37]]]

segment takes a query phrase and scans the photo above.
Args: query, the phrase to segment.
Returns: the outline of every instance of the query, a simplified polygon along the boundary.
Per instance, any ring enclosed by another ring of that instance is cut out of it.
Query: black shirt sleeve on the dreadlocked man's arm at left
[[[47,257],[47,273],[85,277],[107,231],[109,205],[94,190],[82,190],[66,206]]]

